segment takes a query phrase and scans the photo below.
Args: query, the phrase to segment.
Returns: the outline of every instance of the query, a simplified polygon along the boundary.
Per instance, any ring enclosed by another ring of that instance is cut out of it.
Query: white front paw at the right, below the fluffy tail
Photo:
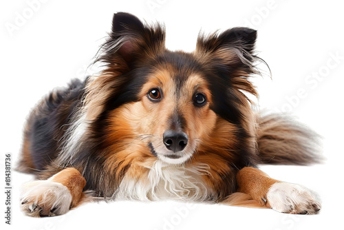
[[[273,184],[266,198],[267,205],[283,213],[316,214],[321,209],[321,202],[313,191],[287,182]]]

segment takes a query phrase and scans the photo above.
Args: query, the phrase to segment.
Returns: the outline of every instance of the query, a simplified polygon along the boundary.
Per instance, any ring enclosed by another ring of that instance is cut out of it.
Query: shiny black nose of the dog
[[[188,135],[184,132],[169,130],[162,136],[167,149],[176,152],[182,151],[188,144]]]

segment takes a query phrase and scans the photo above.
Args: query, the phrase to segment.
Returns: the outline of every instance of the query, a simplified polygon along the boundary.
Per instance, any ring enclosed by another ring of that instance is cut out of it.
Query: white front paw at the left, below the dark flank
[[[36,180],[25,185],[21,210],[28,216],[58,216],[69,211],[72,195],[58,182]]]

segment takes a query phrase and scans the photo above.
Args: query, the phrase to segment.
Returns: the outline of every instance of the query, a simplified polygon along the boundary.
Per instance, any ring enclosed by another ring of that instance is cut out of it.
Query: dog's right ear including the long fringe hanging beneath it
[[[200,34],[197,39],[195,56],[212,72],[221,72],[218,76],[224,85],[232,85],[237,90],[244,90],[257,95],[255,87],[248,77],[259,74],[255,61],[256,30],[250,28],[232,28],[210,36]],[[230,84],[228,84],[230,82]]]

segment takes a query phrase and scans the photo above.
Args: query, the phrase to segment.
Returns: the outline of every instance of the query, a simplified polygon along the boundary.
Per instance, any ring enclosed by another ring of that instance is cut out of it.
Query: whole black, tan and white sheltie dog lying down
[[[257,168],[320,158],[310,129],[252,110],[256,37],[232,28],[172,52],[163,25],[114,14],[96,56],[104,70],[52,91],[28,118],[18,169],[37,180],[24,186],[23,212],[62,215],[102,198],[318,213],[313,191]]]

